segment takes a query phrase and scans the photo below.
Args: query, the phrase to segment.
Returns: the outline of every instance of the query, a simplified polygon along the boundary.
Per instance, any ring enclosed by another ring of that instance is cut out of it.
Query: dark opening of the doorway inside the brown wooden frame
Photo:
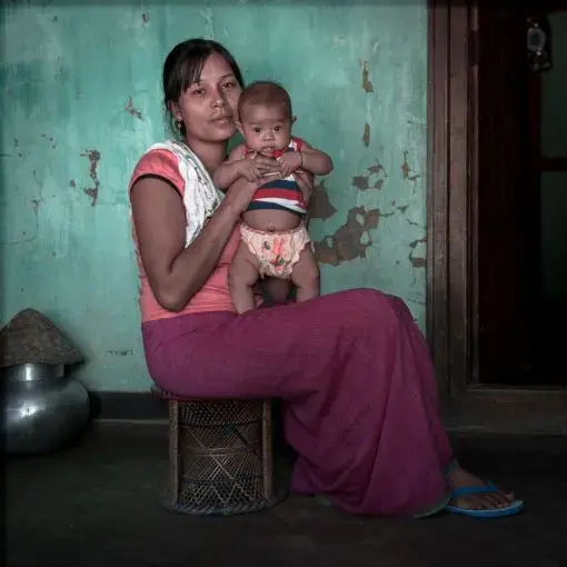
[[[475,16],[477,377],[567,386],[567,12]],[[534,58],[538,29],[553,42]]]

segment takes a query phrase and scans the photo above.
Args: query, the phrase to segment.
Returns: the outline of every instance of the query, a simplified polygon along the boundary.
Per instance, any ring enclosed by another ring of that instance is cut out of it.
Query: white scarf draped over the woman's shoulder
[[[186,248],[198,237],[205,223],[223,198],[201,160],[182,142],[168,140],[151,146],[151,150],[168,150],[177,156],[179,175],[185,183],[183,206],[187,218]]]

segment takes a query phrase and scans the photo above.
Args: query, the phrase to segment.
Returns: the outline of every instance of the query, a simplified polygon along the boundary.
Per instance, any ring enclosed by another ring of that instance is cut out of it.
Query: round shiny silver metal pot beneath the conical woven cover
[[[21,364],[3,368],[2,375],[7,452],[57,450],[87,425],[87,389],[64,375],[63,365]]]

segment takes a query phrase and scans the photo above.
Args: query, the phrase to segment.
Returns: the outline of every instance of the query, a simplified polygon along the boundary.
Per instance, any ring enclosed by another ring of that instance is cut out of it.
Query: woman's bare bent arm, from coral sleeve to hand
[[[180,195],[165,180],[142,178],[131,189],[132,217],[148,282],[159,304],[180,311],[212,273],[257,183],[241,179],[228,191],[187,248]]]

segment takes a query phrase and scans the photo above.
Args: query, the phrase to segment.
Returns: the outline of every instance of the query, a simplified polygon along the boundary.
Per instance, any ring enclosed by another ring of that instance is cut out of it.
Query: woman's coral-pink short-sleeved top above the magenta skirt
[[[180,173],[178,159],[179,158],[175,153],[163,149],[150,150],[148,153],[143,155],[140,161],[138,161],[130,179],[128,189],[129,195],[136,181],[140,178],[147,176],[159,177],[176,188],[177,192],[181,197],[179,206],[183,207],[185,210],[185,206],[182,203],[185,181]],[[133,221],[132,239],[140,278],[138,301],[142,322],[203,311],[233,311],[232,301],[230,300],[230,294],[228,291],[228,268],[240,241],[240,231],[238,226],[235,227],[230,240],[225,247],[217,267],[210,275],[209,279],[180,312],[168,311],[156,299],[140,258]]]

